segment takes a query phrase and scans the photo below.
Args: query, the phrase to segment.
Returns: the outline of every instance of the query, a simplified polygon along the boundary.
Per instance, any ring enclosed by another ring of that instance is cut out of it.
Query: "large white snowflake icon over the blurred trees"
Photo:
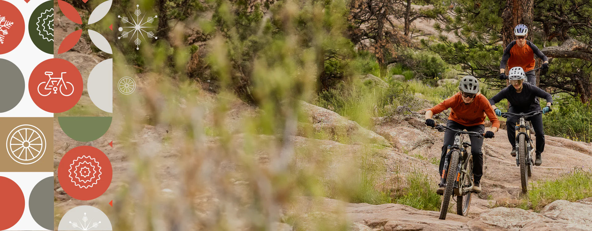
[[[154,22],[155,18],[158,18],[158,15],[155,15],[154,17],[148,17],[146,19],[146,21],[144,21],[144,17],[146,17],[146,14],[142,15],[142,18],[140,19],[140,15],[142,14],[142,12],[140,11],[140,5],[136,5],[136,7],[137,7],[136,11],[134,11],[134,15],[136,15],[136,18],[134,18],[132,15],[130,15],[131,21],[126,16],[122,17],[121,15],[117,15],[117,18],[121,18],[121,22],[123,22],[123,24],[132,25],[132,27],[120,27],[119,31],[123,31],[124,28],[131,28],[131,29],[129,31],[123,31],[121,33],[121,36],[117,37],[117,39],[127,38],[128,36],[130,36],[130,32],[133,32],[131,34],[130,41],[134,38],[134,35],[136,35],[136,39],[134,40],[134,44],[136,44],[136,50],[140,50],[140,44],[141,44],[140,35],[143,39],[145,38],[144,33],[149,38],[154,38],[155,40],[158,39],[158,37],[155,36],[154,32],[147,31],[147,29],[144,30],[144,28],[154,28],[154,27],[145,27],[144,25],[146,25],[146,24],[152,25],[152,22]]]

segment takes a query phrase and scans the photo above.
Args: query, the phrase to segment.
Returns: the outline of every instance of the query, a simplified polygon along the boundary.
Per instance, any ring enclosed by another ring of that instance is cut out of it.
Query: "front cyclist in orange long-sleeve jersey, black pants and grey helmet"
[[[434,127],[435,122],[432,119],[434,114],[440,113],[443,110],[451,108],[450,116],[448,116],[448,123],[446,126],[452,129],[463,130],[470,132],[484,132],[485,131],[485,115],[491,121],[491,131],[484,133],[485,138],[493,138],[497,129],[500,128],[500,121],[498,121],[496,113],[491,109],[491,105],[487,97],[479,93],[479,82],[474,76],[465,76],[461,79],[458,86],[460,90],[452,97],[445,99],[444,102],[439,103],[426,112],[426,125]],[[473,156],[473,175],[475,186],[472,192],[481,193],[481,176],[483,175],[483,153],[481,146],[483,145],[483,138],[470,136],[471,138],[471,154]],[[444,145],[442,145],[442,156],[440,157],[440,175],[444,168],[444,161],[446,158],[446,151],[448,145],[454,144],[454,132],[444,133]],[[437,194],[443,194],[444,188],[440,187],[436,190]]]

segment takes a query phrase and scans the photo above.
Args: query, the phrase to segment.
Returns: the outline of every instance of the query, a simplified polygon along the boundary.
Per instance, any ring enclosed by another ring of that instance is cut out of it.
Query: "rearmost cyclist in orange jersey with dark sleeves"
[[[535,69],[535,54],[543,60],[543,70],[549,68],[549,58],[535,44],[526,40],[528,35],[526,25],[517,25],[514,28],[514,35],[516,35],[516,40],[507,45],[504,55],[501,57],[500,79],[507,79],[506,74],[504,74],[506,67],[522,67],[522,70],[526,73],[526,81],[536,86],[535,71],[532,71]]]

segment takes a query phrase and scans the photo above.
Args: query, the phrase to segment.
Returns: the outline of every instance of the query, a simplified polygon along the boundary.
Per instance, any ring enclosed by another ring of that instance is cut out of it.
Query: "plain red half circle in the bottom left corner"
[[[0,230],[14,226],[25,212],[25,196],[17,183],[0,177]]]

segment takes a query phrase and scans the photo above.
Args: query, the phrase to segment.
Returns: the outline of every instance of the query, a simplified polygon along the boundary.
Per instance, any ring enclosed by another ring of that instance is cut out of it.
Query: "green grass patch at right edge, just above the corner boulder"
[[[533,209],[540,210],[555,200],[576,201],[587,197],[592,197],[592,172],[574,168],[557,180],[532,183],[526,200],[532,203]]]

